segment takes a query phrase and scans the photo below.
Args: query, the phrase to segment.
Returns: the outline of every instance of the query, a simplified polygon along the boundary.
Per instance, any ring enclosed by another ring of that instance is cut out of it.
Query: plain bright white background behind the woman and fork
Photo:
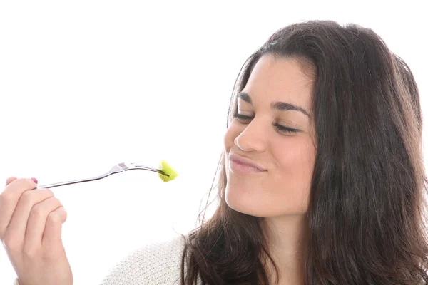
[[[133,249],[195,227],[238,71],[282,26],[332,19],[374,29],[412,68],[427,113],[423,1],[294,2],[0,2],[1,181],[45,184],[161,159],[180,174],[54,189],[68,212],[75,284],[98,284]],[[0,284],[14,276],[1,248]]]

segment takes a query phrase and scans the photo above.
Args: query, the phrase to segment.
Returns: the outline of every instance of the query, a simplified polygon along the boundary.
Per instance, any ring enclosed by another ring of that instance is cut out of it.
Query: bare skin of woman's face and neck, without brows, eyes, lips
[[[238,114],[249,118],[234,118],[224,137],[226,202],[238,212],[264,218],[281,284],[304,284],[300,245],[316,154],[310,115],[313,82],[295,58],[263,56],[243,89],[251,103],[245,95],[238,98]],[[273,110],[271,104],[278,101],[300,106],[309,116]],[[299,131],[280,132],[275,124]],[[234,170],[230,154],[249,158],[265,171]]]

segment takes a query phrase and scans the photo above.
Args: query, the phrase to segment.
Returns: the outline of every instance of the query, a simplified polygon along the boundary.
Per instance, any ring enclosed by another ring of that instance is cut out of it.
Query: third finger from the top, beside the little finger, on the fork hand
[[[38,249],[41,247],[41,239],[43,237],[46,219],[51,212],[54,212],[59,207],[62,207],[61,202],[53,196],[33,206],[26,225],[24,237],[25,251],[31,251],[31,249]]]

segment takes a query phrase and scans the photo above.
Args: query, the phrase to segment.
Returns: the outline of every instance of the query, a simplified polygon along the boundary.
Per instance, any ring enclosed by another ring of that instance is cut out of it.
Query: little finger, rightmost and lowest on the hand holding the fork
[[[59,207],[54,212],[49,213],[42,239],[42,247],[46,249],[46,252],[54,254],[63,249],[61,232],[62,224],[66,219],[67,212],[64,207]]]

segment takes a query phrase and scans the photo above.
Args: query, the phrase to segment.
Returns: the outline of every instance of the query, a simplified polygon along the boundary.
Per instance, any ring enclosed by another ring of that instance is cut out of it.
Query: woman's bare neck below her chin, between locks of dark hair
[[[305,215],[270,217],[263,221],[267,232],[267,250],[280,274],[277,280],[275,269],[268,261],[267,274],[273,279],[272,284],[305,284]]]

